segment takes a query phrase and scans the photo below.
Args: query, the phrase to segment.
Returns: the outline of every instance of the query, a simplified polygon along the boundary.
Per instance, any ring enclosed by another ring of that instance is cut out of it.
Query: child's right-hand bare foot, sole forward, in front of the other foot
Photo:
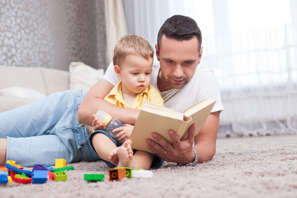
[[[117,167],[135,168],[133,163],[133,150],[131,148],[132,141],[126,140],[117,150],[119,163]]]

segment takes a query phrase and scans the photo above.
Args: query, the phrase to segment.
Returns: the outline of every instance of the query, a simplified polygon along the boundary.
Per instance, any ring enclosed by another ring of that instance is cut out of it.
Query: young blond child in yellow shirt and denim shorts
[[[141,109],[144,101],[163,105],[159,92],[149,85],[153,53],[152,47],[143,37],[137,35],[122,37],[113,55],[114,71],[121,81],[104,100],[124,108]],[[149,169],[162,165],[163,159],[157,155],[140,150],[133,152],[132,141],[129,138],[134,126],[124,124],[123,127],[113,130],[121,132],[112,138],[102,130],[102,124],[98,123],[95,115],[92,119],[94,131],[100,132],[91,134],[92,146],[108,166]]]

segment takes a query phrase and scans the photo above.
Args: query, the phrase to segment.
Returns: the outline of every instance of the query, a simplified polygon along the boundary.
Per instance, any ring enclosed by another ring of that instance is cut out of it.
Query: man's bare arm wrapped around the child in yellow
[[[116,107],[103,100],[113,87],[114,86],[111,83],[101,79],[90,89],[78,108],[77,120],[79,123],[92,126],[92,115],[99,109],[102,109],[109,113],[113,118],[119,119],[122,123],[135,124],[140,112],[139,110]]]

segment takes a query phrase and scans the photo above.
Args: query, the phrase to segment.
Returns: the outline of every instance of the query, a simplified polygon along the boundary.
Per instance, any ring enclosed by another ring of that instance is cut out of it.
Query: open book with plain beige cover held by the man
[[[153,132],[158,133],[168,142],[172,143],[168,130],[172,129],[184,140],[188,136],[188,129],[196,123],[195,135],[198,134],[208,117],[215,100],[203,99],[187,107],[183,113],[145,102],[136,120],[130,136],[132,148],[152,152],[148,149],[146,139],[152,139]]]

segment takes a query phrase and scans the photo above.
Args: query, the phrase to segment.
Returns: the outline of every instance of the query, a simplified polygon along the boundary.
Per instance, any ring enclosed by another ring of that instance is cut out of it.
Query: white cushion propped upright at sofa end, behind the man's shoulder
[[[89,90],[103,74],[103,69],[94,69],[82,62],[71,62],[69,65],[70,90]]]

